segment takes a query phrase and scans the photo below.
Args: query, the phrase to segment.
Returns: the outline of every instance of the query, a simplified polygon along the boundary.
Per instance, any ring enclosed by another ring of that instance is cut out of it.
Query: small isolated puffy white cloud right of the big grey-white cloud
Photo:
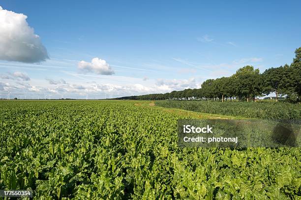
[[[98,75],[115,74],[110,65],[105,60],[99,58],[93,58],[91,62],[86,62],[84,60],[80,61],[78,63],[78,69],[80,69],[84,73],[91,72]]]

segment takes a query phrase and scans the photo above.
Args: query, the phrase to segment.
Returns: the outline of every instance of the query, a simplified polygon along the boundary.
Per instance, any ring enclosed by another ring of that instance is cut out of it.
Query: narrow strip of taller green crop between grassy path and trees
[[[301,119],[301,104],[285,102],[159,100],[156,106],[259,119]]]

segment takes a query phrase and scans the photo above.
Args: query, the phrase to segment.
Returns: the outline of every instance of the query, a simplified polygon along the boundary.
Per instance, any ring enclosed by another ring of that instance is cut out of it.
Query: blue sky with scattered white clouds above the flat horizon
[[[290,64],[301,1],[0,1],[0,98],[104,99],[200,88]]]

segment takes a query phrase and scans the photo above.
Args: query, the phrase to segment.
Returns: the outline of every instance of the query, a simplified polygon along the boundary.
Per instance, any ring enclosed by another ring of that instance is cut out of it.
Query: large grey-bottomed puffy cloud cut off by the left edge
[[[0,6],[1,60],[35,63],[49,58],[40,37],[34,34],[26,19],[26,15]]]

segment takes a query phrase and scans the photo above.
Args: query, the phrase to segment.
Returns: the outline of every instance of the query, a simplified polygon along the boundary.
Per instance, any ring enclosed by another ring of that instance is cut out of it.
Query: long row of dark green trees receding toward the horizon
[[[166,99],[212,99],[212,100],[255,100],[256,97],[276,94],[290,101],[301,100],[301,48],[295,51],[296,57],[291,65],[267,69],[260,74],[253,66],[244,66],[230,77],[208,79],[200,89],[185,89],[165,94],[150,94],[122,97],[128,100],[166,100]]]

